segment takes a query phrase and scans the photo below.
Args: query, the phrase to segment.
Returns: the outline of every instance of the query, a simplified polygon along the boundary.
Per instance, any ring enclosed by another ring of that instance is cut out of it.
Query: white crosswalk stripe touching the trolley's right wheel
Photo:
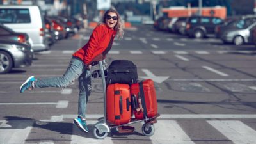
[[[174,120],[163,120],[154,124],[154,127],[156,131],[150,137],[154,144],[195,144]]]

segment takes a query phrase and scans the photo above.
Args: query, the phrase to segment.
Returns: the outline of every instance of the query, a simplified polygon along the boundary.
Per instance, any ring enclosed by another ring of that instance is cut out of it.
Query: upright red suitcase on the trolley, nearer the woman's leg
[[[109,84],[106,102],[108,122],[121,125],[131,121],[131,94],[128,84]]]

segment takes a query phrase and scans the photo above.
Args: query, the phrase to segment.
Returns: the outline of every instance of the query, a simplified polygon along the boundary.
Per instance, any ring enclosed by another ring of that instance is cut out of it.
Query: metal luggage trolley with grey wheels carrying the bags
[[[122,124],[122,125],[108,125],[107,123],[107,110],[106,110],[106,80],[105,80],[105,74],[104,74],[104,65],[106,65],[106,61],[105,60],[100,60],[99,61],[99,69],[100,69],[100,74],[102,77],[102,86],[103,86],[103,100],[104,100],[104,117],[99,118],[95,127],[93,129],[93,134],[95,136],[95,138],[98,139],[104,139],[106,138],[106,136],[108,136],[108,133],[111,132],[111,129],[116,129],[118,131],[118,127],[122,127],[124,125],[130,125],[130,124],[134,124],[137,122],[145,122],[142,126],[142,133],[145,136],[152,136],[155,132],[155,128],[154,128],[154,123],[156,123],[156,118],[158,116],[160,116],[159,113],[157,113],[154,117],[152,118],[145,118],[143,120],[136,120],[135,118],[132,118],[131,122],[127,123],[127,124]]]

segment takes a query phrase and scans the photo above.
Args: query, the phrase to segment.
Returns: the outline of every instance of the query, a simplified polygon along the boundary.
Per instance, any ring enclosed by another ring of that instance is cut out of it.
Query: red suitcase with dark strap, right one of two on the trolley
[[[146,79],[140,83],[131,85],[131,95],[136,97],[135,103],[141,103],[142,109],[134,110],[134,116],[137,120],[152,118],[157,114],[157,99],[154,81]],[[141,99],[141,100],[140,100]],[[140,102],[141,101],[141,102]]]

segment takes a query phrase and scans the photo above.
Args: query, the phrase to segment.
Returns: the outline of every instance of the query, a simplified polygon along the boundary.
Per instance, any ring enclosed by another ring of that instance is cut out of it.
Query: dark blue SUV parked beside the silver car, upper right
[[[186,33],[189,37],[194,38],[214,36],[215,27],[223,22],[224,20],[219,17],[192,16],[186,22]]]

